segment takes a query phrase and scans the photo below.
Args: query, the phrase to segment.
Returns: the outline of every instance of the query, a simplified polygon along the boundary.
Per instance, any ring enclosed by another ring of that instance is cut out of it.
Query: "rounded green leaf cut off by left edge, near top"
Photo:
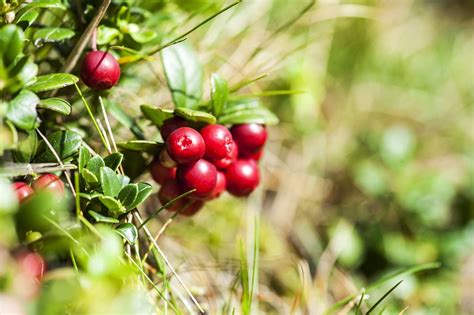
[[[8,24],[0,28],[0,57],[9,66],[23,51],[25,35],[16,25]]]

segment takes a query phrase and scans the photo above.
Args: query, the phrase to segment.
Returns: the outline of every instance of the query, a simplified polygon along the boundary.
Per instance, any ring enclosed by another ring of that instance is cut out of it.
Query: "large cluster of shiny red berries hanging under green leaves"
[[[265,126],[241,124],[229,130],[211,124],[198,131],[187,121],[173,117],[165,120],[160,132],[166,148],[150,165],[153,179],[161,185],[158,198],[166,205],[194,190],[167,205],[168,210],[192,215],[224,190],[243,197],[257,188],[257,161],[267,140]]]

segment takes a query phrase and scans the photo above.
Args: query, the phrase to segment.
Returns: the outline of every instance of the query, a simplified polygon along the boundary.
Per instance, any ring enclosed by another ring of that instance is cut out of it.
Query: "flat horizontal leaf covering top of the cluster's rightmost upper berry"
[[[262,124],[276,125],[278,117],[265,107],[246,109],[219,117],[219,123],[226,124]]]

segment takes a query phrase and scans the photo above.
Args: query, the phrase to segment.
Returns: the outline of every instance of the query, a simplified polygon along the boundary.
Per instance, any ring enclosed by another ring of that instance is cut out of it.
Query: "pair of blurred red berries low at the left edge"
[[[35,192],[42,190],[51,191],[59,196],[64,195],[64,183],[54,174],[41,175],[32,183],[33,188],[25,182],[15,182],[12,185],[20,203]]]

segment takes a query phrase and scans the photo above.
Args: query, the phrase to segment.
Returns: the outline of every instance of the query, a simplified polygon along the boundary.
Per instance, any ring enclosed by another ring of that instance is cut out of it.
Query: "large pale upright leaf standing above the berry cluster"
[[[170,46],[161,52],[161,62],[176,107],[192,108],[202,97],[203,71],[187,43]]]

